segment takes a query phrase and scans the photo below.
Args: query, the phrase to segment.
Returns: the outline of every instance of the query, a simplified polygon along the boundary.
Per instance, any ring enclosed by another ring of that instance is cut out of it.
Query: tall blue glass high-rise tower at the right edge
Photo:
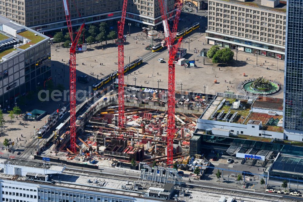
[[[303,141],[303,1],[287,1],[286,59],[284,78],[284,133]]]

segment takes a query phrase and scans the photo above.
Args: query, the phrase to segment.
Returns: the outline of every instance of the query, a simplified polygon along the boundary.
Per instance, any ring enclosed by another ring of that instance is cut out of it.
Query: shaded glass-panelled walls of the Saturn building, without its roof
[[[51,77],[48,40],[0,63],[0,105],[9,109],[18,104],[18,97],[44,87]]]

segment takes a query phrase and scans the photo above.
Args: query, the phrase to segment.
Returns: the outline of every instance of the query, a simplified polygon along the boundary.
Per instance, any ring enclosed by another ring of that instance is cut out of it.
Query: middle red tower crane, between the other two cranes
[[[127,0],[123,1],[121,20],[118,21],[118,39],[116,44],[118,45],[118,102],[119,102],[119,114],[118,114],[118,126],[124,127],[124,37],[123,29],[125,23]]]

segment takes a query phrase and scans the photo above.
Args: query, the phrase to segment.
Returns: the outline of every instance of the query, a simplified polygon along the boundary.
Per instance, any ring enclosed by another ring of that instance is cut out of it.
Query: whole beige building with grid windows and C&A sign
[[[208,44],[284,59],[284,7],[278,0],[208,1]]]

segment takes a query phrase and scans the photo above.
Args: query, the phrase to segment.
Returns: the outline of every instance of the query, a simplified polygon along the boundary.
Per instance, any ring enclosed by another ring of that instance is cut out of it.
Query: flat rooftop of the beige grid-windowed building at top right
[[[286,1],[285,1],[285,3],[283,3],[284,1],[280,1],[279,5],[276,6],[275,8],[261,5],[260,0],[247,0],[245,2],[237,1],[237,0],[220,0],[220,1],[233,2],[233,3],[237,3],[237,4],[251,6],[251,7],[254,7],[254,8],[263,8],[263,9],[268,10],[268,11],[283,12],[283,13],[286,12],[286,7],[287,7],[286,6]]]

